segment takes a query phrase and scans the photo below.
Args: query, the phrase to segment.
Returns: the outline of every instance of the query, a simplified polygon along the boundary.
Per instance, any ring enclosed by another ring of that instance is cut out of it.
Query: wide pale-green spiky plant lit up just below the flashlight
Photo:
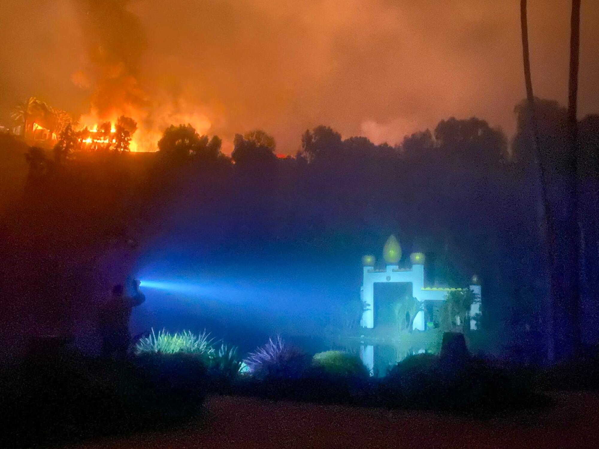
[[[158,332],[152,328],[152,333],[147,337],[140,338],[135,344],[135,354],[198,354],[211,357],[214,354],[213,339],[210,333],[204,332],[199,335],[183,330],[181,333],[170,333],[165,329]]]

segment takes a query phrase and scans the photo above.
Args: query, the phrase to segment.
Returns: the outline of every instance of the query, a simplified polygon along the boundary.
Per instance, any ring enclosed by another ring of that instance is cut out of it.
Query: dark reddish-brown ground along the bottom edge
[[[489,420],[212,396],[198,424],[71,448],[599,447],[599,393],[552,396],[557,400],[552,408]]]

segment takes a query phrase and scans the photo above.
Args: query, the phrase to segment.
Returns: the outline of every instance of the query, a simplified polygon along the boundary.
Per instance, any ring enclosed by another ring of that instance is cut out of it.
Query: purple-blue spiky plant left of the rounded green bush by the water
[[[287,344],[280,336],[259,347],[244,360],[250,374],[259,378],[299,378],[310,359],[304,352]]]

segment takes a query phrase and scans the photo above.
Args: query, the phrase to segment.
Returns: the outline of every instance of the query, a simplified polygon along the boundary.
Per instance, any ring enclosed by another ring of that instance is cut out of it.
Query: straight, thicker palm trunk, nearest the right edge
[[[578,210],[578,66],[580,50],[580,0],[572,0],[570,17],[570,77],[568,79],[568,199],[570,214],[568,216],[568,311],[567,332],[568,356],[576,356],[580,352],[580,220]]]

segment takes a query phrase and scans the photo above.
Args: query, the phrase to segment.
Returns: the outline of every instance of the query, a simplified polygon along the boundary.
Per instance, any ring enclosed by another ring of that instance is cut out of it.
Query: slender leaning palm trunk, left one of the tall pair
[[[547,195],[547,174],[545,171],[546,163],[543,160],[543,153],[539,144],[539,125],[537,123],[536,107],[534,104],[533,80],[530,70],[530,51],[528,49],[528,19],[527,19],[527,0],[520,1],[520,24],[522,29],[522,59],[524,62],[524,81],[526,85],[529,126],[533,132],[533,150],[539,165],[539,175],[541,184],[541,201],[543,202],[543,222],[545,235],[544,240],[547,248],[547,266],[549,269],[549,301],[550,313],[547,320],[547,358],[552,361],[555,359],[555,317],[553,310],[556,308],[556,272],[555,272],[555,226],[549,196]]]

